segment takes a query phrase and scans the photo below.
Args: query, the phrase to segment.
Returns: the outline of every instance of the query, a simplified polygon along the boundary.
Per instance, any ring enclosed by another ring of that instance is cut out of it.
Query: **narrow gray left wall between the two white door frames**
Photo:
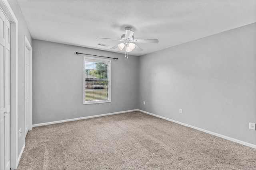
[[[20,6],[16,0],[8,0],[12,11],[18,20],[18,129],[22,129],[22,135],[18,139],[18,155],[24,145],[24,35],[32,45],[32,38]],[[18,131],[17,129],[17,131]]]

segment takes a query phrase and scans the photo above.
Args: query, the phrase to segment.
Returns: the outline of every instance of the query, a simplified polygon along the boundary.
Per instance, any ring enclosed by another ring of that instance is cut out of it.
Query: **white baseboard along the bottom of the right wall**
[[[209,133],[211,135],[214,135],[214,136],[217,136],[217,137],[221,137],[223,139],[227,139],[229,141],[232,141],[232,142],[235,142],[235,143],[240,143],[242,145],[245,145],[245,146],[248,146],[248,147],[252,147],[252,148],[255,148],[256,149],[256,145],[254,144],[251,144],[251,143],[247,143],[247,142],[244,142],[244,141],[240,141],[238,139],[234,139],[234,138],[231,138],[231,137],[227,137],[225,135],[221,135],[221,134],[218,134],[218,133],[215,133],[215,132],[212,132],[212,131],[208,131],[208,130],[205,130],[205,129],[201,129],[199,127],[195,127],[195,126],[192,126],[192,125],[188,125],[186,123],[182,123],[182,122],[179,122],[179,121],[176,121],[176,120],[172,120],[172,119],[169,119],[169,118],[166,118],[166,117],[163,117],[163,116],[160,116],[160,115],[156,115],[156,114],[153,114],[153,113],[150,113],[150,112],[147,112],[147,111],[143,111],[143,110],[140,110],[140,109],[137,109],[138,111],[141,111],[143,113],[147,113],[149,115],[152,115],[152,116],[155,116],[155,117],[159,117],[161,119],[165,119],[165,120],[168,120],[168,121],[172,121],[174,123],[178,123],[180,125],[184,125],[184,126],[187,126],[187,127],[191,127],[193,129],[196,129],[196,130],[199,130],[199,131],[203,131],[205,133]]]

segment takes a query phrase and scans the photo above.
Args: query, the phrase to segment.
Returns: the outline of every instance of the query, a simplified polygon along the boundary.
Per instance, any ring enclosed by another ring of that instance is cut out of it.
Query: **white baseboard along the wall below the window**
[[[106,114],[102,114],[102,115],[93,115],[93,116],[86,116],[86,117],[78,117],[78,118],[74,118],[74,119],[66,119],[66,120],[60,120],[60,121],[51,121],[51,122],[46,122],[46,123],[38,123],[38,124],[32,125],[32,127],[44,126],[44,125],[51,125],[51,124],[55,124],[55,123],[63,123],[63,122],[67,122],[67,121],[76,121],[76,120],[82,120],[82,119],[89,119],[89,118],[93,118],[93,117],[101,117],[101,116],[107,116],[107,115],[115,115],[115,114],[120,114],[120,113],[131,112],[131,111],[138,111],[138,109],[126,110],[126,111],[118,111],[118,112],[114,112],[114,113],[106,113]]]

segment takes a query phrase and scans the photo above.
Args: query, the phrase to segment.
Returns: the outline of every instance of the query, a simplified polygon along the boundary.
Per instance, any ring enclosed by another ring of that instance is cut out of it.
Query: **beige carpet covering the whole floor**
[[[17,170],[256,170],[256,149],[139,111],[34,127]]]

